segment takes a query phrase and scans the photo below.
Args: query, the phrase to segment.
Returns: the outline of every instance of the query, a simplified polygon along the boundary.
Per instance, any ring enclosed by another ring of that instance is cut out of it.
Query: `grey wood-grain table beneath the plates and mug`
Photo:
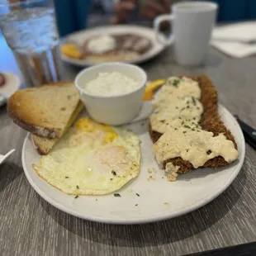
[[[0,70],[18,73],[3,40],[0,53]],[[188,69],[175,64],[168,49],[142,67],[150,79],[205,73],[218,88],[220,102],[256,127],[255,57],[230,59],[211,49],[206,66]],[[65,77],[73,78],[78,70],[65,65]],[[180,255],[256,240],[256,154],[249,145],[235,182],[201,209],[149,225],[104,225],[69,216],[36,194],[22,171],[25,135],[1,107],[0,153],[17,149],[0,167],[2,255]]]

